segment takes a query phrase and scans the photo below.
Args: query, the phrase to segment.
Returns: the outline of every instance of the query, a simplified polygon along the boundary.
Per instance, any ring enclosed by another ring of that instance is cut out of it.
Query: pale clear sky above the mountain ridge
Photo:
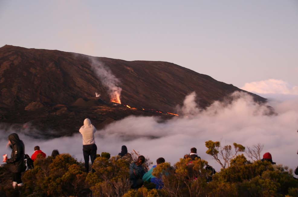
[[[0,0],[0,25],[0,46],[168,61],[238,87],[298,85],[298,0]]]

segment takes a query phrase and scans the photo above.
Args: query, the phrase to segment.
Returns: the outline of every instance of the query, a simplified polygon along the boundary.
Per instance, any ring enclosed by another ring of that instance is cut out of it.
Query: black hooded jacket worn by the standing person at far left
[[[26,170],[24,162],[25,145],[16,133],[10,134],[8,140],[11,143],[12,152],[11,158],[7,159],[6,163],[10,164],[11,172],[24,172]]]

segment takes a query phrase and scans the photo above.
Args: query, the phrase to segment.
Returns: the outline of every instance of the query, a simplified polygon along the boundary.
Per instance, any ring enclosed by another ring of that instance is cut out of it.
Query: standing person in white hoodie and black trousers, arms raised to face
[[[89,172],[89,156],[91,158],[91,163],[93,164],[96,158],[97,146],[94,140],[94,133],[96,128],[91,124],[89,118],[84,120],[84,125],[80,128],[79,132],[83,136],[83,155],[85,160],[86,172]],[[92,172],[94,170],[92,169]]]

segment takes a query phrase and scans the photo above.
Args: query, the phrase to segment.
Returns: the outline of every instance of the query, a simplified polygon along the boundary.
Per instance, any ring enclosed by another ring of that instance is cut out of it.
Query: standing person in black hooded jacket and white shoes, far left
[[[8,144],[12,151],[11,158],[7,159],[6,163],[9,164],[9,170],[12,172],[12,186],[15,188],[16,185],[23,185],[21,172],[26,170],[24,162],[25,145],[16,133],[11,133],[8,136]]]

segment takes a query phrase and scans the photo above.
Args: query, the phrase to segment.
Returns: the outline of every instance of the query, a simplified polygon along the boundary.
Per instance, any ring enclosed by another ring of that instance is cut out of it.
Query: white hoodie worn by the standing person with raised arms
[[[80,128],[79,132],[83,136],[83,145],[95,144],[94,133],[96,128],[91,124],[89,118],[84,120],[84,125]]]

